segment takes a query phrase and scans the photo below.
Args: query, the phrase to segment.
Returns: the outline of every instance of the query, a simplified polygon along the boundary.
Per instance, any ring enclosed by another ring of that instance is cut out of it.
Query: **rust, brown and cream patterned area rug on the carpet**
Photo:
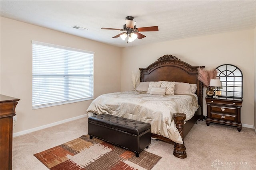
[[[162,158],[146,150],[135,153],[83,135],[34,154],[50,170],[151,170]]]

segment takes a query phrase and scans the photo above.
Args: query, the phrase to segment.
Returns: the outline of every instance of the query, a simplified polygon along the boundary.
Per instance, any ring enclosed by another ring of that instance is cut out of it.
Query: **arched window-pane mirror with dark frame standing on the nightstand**
[[[222,87],[218,89],[221,99],[242,100],[243,97],[243,74],[242,71],[232,64],[223,64],[216,68],[217,77],[220,78]]]

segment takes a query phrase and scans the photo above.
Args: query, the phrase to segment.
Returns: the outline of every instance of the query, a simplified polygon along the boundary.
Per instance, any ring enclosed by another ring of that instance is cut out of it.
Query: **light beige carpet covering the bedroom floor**
[[[13,170],[47,170],[33,154],[87,134],[88,118],[78,119],[13,139]],[[255,170],[254,129],[198,121],[184,139],[187,158],[173,156],[173,145],[151,141],[148,152],[161,156],[152,170]]]

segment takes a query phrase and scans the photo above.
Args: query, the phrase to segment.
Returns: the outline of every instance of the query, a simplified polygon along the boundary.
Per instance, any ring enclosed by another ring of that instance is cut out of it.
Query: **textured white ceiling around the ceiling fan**
[[[1,0],[1,16],[100,41],[117,47],[170,41],[199,35],[255,28],[255,0],[238,1],[7,1]],[[128,44],[112,38],[122,29],[125,17],[133,16],[136,27],[158,26],[159,31]],[[74,29],[78,25],[85,30]],[[18,28],[17,28],[18,29]]]

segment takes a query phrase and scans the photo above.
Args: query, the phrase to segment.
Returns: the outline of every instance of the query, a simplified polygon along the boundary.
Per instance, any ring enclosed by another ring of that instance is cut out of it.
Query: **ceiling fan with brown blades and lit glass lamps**
[[[136,28],[136,25],[135,25],[136,21],[133,21],[133,19],[134,18],[132,16],[127,16],[125,18],[126,24],[124,24],[123,29],[118,29],[118,28],[101,28],[101,29],[112,29],[112,30],[125,31],[125,32],[122,32],[122,33],[112,37],[112,38],[121,37],[122,40],[125,40],[126,37],[128,37],[129,42],[134,41],[136,38],[142,39],[142,38],[146,37],[145,35],[139,33],[141,31],[158,31],[158,26]],[[127,43],[128,43],[128,41],[127,41]]]

